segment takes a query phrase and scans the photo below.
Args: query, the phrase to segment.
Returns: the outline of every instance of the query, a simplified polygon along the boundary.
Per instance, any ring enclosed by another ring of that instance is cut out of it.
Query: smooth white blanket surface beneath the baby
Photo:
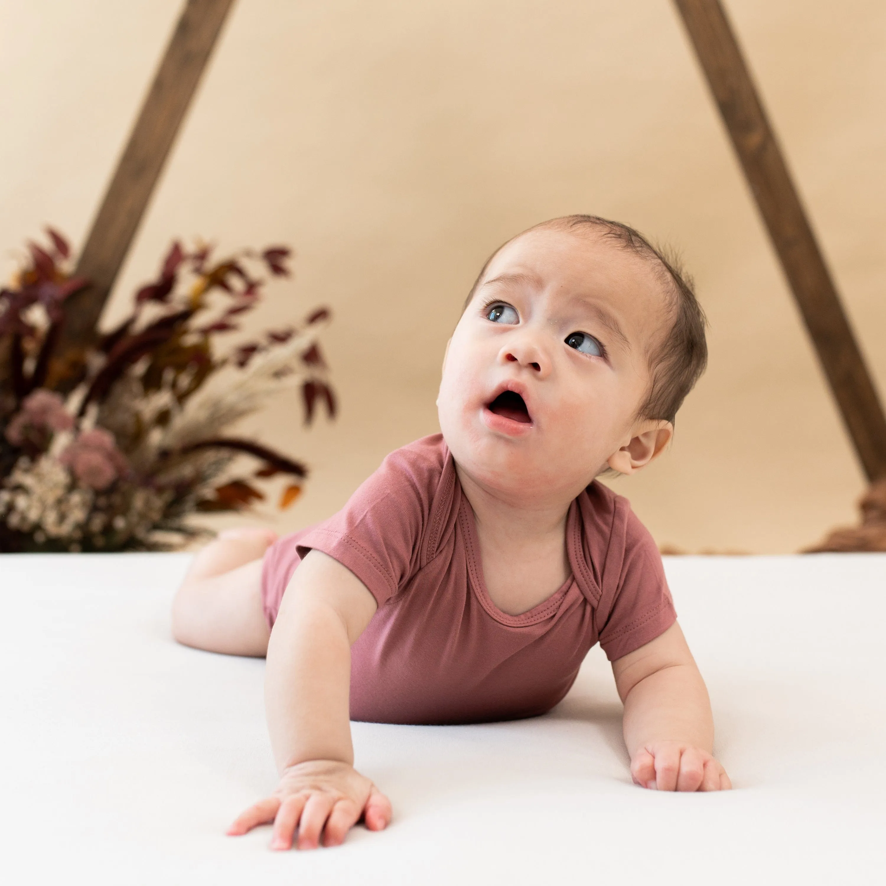
[[[264,662],[169,635],[186,555],[0,556],[5,883],[882,883],[886,555],[666,559],[735,789],[634,787],[592,650],[547,716],[355,723],[382,833],[224,830],[276,784]]]

